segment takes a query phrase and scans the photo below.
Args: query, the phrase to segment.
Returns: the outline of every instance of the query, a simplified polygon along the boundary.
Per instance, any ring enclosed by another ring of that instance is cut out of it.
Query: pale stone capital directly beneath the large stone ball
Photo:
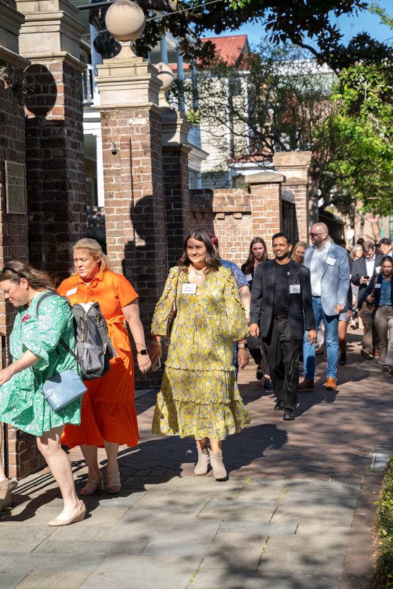
[[[143,57],[104,59],[97,70],[95,81],[101,97],[100,110],[131,110],[130,105],[132,108],[148,105],[162,113],[158,106],[162,83],[156,68]]]

